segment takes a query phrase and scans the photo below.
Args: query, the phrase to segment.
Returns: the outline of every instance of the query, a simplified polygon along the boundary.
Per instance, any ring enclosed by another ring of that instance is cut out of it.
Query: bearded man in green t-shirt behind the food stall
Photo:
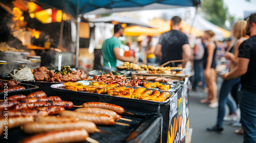
[[[103,68],[105,69],[116,69],[116,60],[135,62],[135,59],[120,56],[121,41],[118,39],[120,36],[123,36],[123,28],[121,25],[115,25],[114,36],[110,39],[106,39],[102,44]]]

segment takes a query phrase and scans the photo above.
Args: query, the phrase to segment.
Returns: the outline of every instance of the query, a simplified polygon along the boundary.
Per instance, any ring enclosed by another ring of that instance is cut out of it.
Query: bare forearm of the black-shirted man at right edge
[[[239,78],[247,72],[250,59],[238,58],[238,65],[230,73],[222,75],[224,80]]]

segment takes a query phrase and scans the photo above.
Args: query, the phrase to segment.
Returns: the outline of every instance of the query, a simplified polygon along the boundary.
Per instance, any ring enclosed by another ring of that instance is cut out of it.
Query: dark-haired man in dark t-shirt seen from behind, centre
[[[180,32],[181,18],[174,16],[171,20],[170,31],[163,33],[156,46],[155,55],[160,57],[161,63],[171,60],[184,60],[183,62],[169,63],[165,66],[185,67],[190,57],[190,47],[187,36]]]

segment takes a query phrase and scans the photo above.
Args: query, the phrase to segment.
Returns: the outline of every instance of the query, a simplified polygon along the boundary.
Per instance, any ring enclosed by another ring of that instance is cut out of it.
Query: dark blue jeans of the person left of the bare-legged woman
[[[202,60],[194,60],[194,70],[195,70],[195,81],[193,84],[193,88],[199,87],[198,82],[200,81],[203,83],[202,87],[206,87],[205,80],[204,80]]]

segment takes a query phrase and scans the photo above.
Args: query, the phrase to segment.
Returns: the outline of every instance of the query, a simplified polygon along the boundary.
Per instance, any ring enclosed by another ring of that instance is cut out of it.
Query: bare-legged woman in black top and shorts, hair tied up
[[[204,39],[206,40],[206,48],[203,57],[204,77],[206,86],[208,88],[208,97],[200,100],[200,103],[209,103],[210,108],[218,107],[217,100],[217,84],[216,84],[216,51],[217,45],[213,38],[215,33],[208,30],[204,32]]]

